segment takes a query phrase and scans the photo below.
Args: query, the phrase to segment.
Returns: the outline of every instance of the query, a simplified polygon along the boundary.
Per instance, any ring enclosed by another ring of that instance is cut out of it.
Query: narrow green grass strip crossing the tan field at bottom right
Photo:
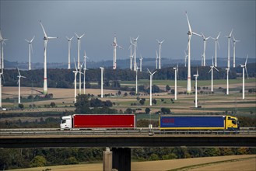
[[[218,162],[207,162],[207,163],[202,163],[202,164],[198,164],[198,165],[184,166],[184,167],[177,168],[177,169],[170,169],[168,171],[185,171],[185,170],[189,170],[189,169],[196,169],[198,167],[211,166],[211,165],[215,165],[215,164],[219,164],[219,163],[223,163],[223,162],[237,162],[237,161],[243,161],[243,160],[254,159],[254,158],[255,157],[248,157],[248,158],[243,158],[243,159],[229,159],[229,160],[223,160],[223,161],[218,161]]]

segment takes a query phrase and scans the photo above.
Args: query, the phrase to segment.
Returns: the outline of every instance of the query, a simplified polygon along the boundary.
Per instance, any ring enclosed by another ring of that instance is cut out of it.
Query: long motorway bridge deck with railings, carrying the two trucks
[[[70,147],[256,147],[256,131],[0,130],[0,148]]]

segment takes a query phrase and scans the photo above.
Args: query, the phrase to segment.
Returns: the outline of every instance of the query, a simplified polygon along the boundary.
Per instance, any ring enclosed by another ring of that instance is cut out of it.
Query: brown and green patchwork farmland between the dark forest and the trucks
[[[162,107],[170,108],[172,113],[177,114],[196,114],[196,113],[233,113],[252,116],[256,113],[255,92],[248,92],[249,89],[256,89],[256,79],[247,79],[245,84],[245,99],[242,99],[242,89],[240,79],[230,80],[230,95],[225,94],[226,80],[216,80],[214,82],[214,93],[210,90],[210,81],[198,80],[198,106],[195,108],[195,94],[185,94],[186,81],[177,82],[177,100],[174,100],[174,95],[170,92],[153,93],[153,99],[156,99],[156,104],[149,106],[149,94],[140,92],[140,96],[124,96],[126,91],[121,91],[121,95],[117,95],[117,90],[104,89],[104,94],[112,94],[113,96],[104,97],[103,100],[109,99],[115,103],[114,109],[126,110],[132,108],[136,113],[144,113],[146,107],[150,107],[151,113],[160,111]],[[146,86],[149,80],[139,80],[139,84]],[[135,82],[121,82],[121,86],[134,87]],[[174,81],[168,80],[154,80],[153,84],[160,86],[160,89],[165,90],[166,85],[170,85],[174,89]],[[192,82],[192,91],[195,82]],[[24,105],[23,113],[29,112],[64,112],[74,111],[74,89],[57,89],[49,88],[48,92],[53,94],[52,99],[27,99],[28,96],[41,96],[40,91],[42,88],[22,87],[21,88],[21,103]],[[83,90],[82,90],[83,92]],[[11,109],[4,111],[5,113],[19,113],[17,104],[18,87],[2,87],[2,106]],[[86,89],[86,93],[93,94],[94,96],[100,95],[100,89]],[[129,93],[129,92],[127,92]],[[139,99],[145,98],[145,104],[141,105]],[[49,107],[50,103],[54,102],[56,106]],[[31,105],[35,107],[31,108]],[[139,110],[138,110],[139,109]],[[3,111],[0,111],[0,113]]]

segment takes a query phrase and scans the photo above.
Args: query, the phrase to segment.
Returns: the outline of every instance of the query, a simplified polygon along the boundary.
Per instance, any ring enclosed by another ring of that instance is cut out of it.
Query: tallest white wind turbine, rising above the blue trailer
[[[187,20],[188,20],[188,14],[186,12],[186,16],[187,16]],[[187,82],[187,93],[191,93],[191,54],[190,54],[190,41],[191,41],[191,37],[192,34],[197,35],[199,37],[201,37],[200,34],[192,32],[191,30],[191,26],[188,20],[188,82]]]

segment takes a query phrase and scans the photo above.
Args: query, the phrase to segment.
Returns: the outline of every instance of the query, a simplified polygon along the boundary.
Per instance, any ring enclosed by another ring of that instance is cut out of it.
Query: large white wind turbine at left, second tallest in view
[[[47,42],[51,39],[57,39],[58,37],[47,37],[47,34],[44,30],[44,26],[40,21],[40,25],[44,31],[44,90],[43,93],[47,94]]]

